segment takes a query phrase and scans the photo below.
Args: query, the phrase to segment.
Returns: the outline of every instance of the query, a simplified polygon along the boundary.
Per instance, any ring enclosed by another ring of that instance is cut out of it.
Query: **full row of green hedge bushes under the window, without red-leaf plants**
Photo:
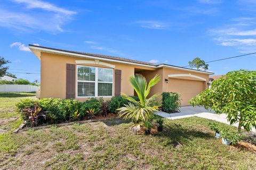
[[[138,97],[133,97],[139,100]],[[42,108],[42,112],[46,113],[46,120],[41,119],[41,123],[59,123],[64,121],[74,120],[74,114],[79,114],[76,120],[83,120],[88,114],[89,109],[94,109],[94,115],[105,114],[106,106],[108,113],[118,113],[117,109],[128,103],[123,97],[112,97],[103,104],[102,98],[90,98],[84,102],[79,102],[75,99],[60,99],[60,98],[43,98],[43,99],[23,99],[16,104],[17,111],[22,113],[23,109],[35,107],[35,104]],[[28,121],[28,116],[22,114],[23,120]]]

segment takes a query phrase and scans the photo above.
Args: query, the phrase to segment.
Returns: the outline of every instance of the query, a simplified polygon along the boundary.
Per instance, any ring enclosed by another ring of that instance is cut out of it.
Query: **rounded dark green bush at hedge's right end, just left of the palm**
[[[136,101],[140,99],[137,96],[130,96]],[[109,113],[118,113],[117,109],[124,107],[125,104],[128,104],[128,100],[123,98],[122,96],[112,97],[111,100],[108,101],[108,112]]]

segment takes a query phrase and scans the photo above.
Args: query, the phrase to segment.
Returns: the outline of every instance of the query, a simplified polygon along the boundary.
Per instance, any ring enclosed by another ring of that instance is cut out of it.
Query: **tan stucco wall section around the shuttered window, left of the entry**
[[[51,53],[43,53],[43,52],[41,53],[41,98],[49,98],[49,97],[66,98],[66,64],[67,63],[76,64],[76,60],[90,60],[90,59],[82,58],[82,57],[51,54]],[[135,67],[138,69],[154,70],[153,68],[144,67],[144,66],[106,62],[106,61],[102,61],[102,62],[115,65],[115,69],[122,70],[121,92],[124,92],[125,94],[131,95],[131,96],[134,95],[134,91],[133,91],[133,87],[129,83],[129,77],[134,75]],[[77,65],[108,67],[108,66],[98,65],[98,64],[77,64]],[[75,91],[77,93],[77,82],[76,82]],[[87,98],[79,97],[77,99],[79,101],[84,101]]]

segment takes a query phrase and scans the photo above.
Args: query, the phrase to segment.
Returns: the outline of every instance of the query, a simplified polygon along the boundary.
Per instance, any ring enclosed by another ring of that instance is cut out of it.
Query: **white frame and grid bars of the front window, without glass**
[[[79,66],[85,66],[85,67],[93,67],[95,68],[95,81],[84,81],[84,80],[78,80],[77,73],[78,73],[78,67]],[[113,82],[105,82],[105,81],[98,81],[98,69],[108,69],[112,71],[113,75]],[[94,86],[94,96],[78,96],[78,82],[92,82],[95,83]],[[109,83],[112,84],[112,95],[111,96],[98,96],[98,83]],[[103,97],[103,98],[111,98],[114,96],[114,69],[109,69],[105,67],[95,67],[95,66],[88,66],[88,65],[76,65],[76,97],[77,98],[92,98],[92,97]]]

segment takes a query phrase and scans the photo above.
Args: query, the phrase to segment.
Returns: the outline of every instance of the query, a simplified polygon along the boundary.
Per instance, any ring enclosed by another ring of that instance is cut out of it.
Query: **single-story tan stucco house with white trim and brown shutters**
[[[150,95],[172,91],[181,94],[181,105],[208,88],[212,72],[198,71],[169,64],[152,64],[107,55],[74,52],[36,45],[30,50],[41,60],[41,98],[89,97],[105,100],[121,92],[134,95],[129,77],[140,73],[149,81],[156,74],[162,79]]]

